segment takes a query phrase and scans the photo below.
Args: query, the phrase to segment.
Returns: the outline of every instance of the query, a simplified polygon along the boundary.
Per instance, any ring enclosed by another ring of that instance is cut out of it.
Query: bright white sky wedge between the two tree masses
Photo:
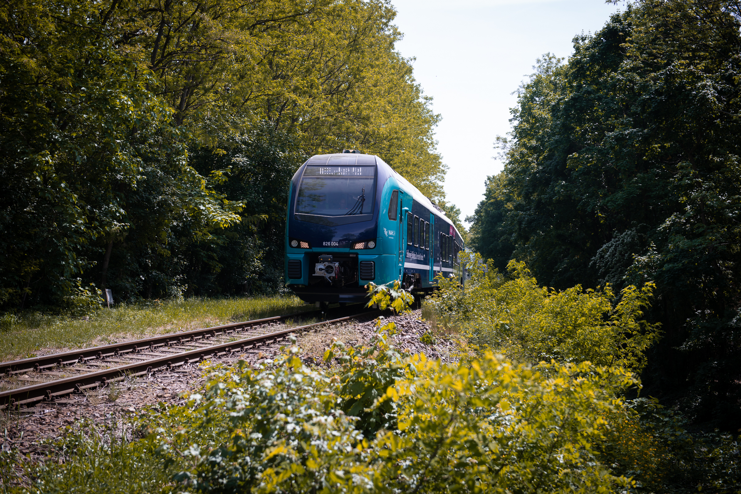
[[[416,57],[414,77],[433,110],[438,151],[450,169],[447,200],[473,214],[488,175],[502,170],[494,138],[510,130],[511,93],[533,72],[536,58],[568,57],[571,39],[594,33],[624,8],[604,0],[392,0],[404,33],[396,48]],[[466,223],[468,227],[468,223]]]

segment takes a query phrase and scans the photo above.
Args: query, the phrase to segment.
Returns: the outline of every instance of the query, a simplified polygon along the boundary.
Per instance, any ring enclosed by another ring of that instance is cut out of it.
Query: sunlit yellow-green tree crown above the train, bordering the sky
[[[230,133],[269,123],[308,154],[380,155],[442,197],[439,115],[393,50],[401,34],[390,4],[122,1],[114,15],[127,53],[157,75],[153,90],[199,141],[222,146]]]

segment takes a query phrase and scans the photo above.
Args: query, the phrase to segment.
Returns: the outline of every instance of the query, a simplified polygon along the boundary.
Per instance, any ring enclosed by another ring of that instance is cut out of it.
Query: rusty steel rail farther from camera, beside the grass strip
[[[124,353],[136,353],[146,348],[153,350],[170,344],[178,345],[189,339],[191,342],[196,338],[202,341],[213,336],[225,336],[230,332],[244,331],[251,329],[256,325],[264,325],[267,322],[277,322],[295,317],[316,317],[316,311],[299,312],[297,314],[287,314],[285,316],[266,317],[265,319],[253,319],[251,321],[233,322],[211,328],[200,328],[191,331],[180,331],[179,333],[161,334],[149,336],[147,338],[135,339],[122,343],[112,343],[97,347],[83,348],[81,350],[67,351],[63,353],[50,353],[49,355],[31,357],[30,359],[13,360],[11,362],[1,362],[0,372],[6,376],[24,373],[27,371],[44,371],[45,369],[55,368],[74,364],[76,362],[84,363],[87,360],[102,359],[107,356],[120,356]]]

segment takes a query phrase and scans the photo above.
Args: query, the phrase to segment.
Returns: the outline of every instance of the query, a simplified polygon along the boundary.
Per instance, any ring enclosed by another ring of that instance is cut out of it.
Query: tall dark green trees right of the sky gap
[[[568,65],[539,61],[498,179],[512,199],[477,214],[548,285],[655,282],[665,336],[648,389],[733,430],[739,14],[734,1],[637,1],[577,36]]]

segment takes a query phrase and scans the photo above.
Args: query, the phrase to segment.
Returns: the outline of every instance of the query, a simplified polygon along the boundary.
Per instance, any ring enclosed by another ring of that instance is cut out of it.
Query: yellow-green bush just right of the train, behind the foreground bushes
[[[469,341],[520,362],[592,362],[632,371],[645,367],[644,351],[659,338],[658,325],[642,319],[654,284],[631,285],[615,297],[609,286],[554,291],[538,285],[525,263],[511,261],[506,280],[467,254],[471,281],[462,291],[439,280],[430,302],[442,317],[454,317]],[[491,264],[491,263],[490,263]]]

